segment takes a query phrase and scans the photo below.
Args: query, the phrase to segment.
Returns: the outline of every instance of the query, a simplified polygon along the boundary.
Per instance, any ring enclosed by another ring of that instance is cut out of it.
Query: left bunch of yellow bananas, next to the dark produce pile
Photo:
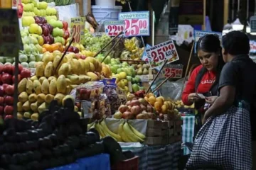
[[[87,129],[95,128],[100,134],[100,137],[110,136],[117,142],[122,142],[122,137],[112,132],[106,125],[105,119],[87,125]]]

